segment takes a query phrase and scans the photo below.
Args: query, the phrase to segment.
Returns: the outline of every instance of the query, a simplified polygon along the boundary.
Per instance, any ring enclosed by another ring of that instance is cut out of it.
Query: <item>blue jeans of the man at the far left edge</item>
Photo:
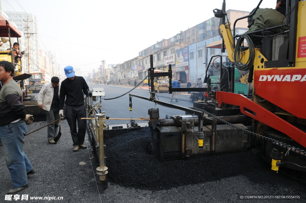
[[[0,139],[3,144],[4,159],[11,174],[15,188],[28,184],[27,172],[33,169],[24,154],[24,135],[28,127],[23,119],[18,122],[0,126]]]

